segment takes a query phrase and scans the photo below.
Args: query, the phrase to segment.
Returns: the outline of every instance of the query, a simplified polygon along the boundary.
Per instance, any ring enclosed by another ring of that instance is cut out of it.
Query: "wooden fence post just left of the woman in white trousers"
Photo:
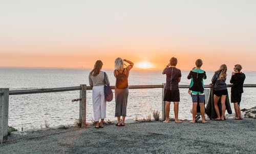
[[[80,98],[79,101],[79,123],[80,127],[86,126],[86,84],[80,84]]]

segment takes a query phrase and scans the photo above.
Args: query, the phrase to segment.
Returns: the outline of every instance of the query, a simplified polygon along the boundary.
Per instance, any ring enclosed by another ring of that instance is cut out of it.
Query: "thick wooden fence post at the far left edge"
[[[0,89],[0,143],[8,139],[9,89]]]

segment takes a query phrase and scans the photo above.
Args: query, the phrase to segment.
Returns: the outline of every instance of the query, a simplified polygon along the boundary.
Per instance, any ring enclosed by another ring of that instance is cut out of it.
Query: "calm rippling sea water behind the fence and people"
[[[112,70],[103,70],[108,73],[111,85],[115,84]],[[89,85],[90,70],[66,69],[0,69],[0,87],[10,90],[42,89],[52,87]],[[189,84],[186,79],[188,71],[182,71],[180,84]],[[214,72],[206,72],[205,84],[210,83]],[[256,72],[245,72],[246,84],[255,84]],[[228,72],[229,83],[231,72]],[[129,76],[129,85],[162,84],[165,75],[161,71],[134,71]],[[230,95],[230,89],[229,95]],[[245,88],[242,95],[242,108],[255,106],[256,88]],[[187,89],[180,89],[181,101],[179,103],[179,118],[191,119],[191,98]],[[61,124],[74,124],[79,117],[79,102],[71,102],[79,98],[79,91],[57,92],[44,94],[10,95],[9,97],[9,126],[25,129],[44,127],[45,121],[50,127]],[[232,104],[231,104],[231,107]],[[126,119],[143,119],[154,110],[162,108],[162,89],[129,90]],[[233,108],[232,108],[233,109]],[[107,102],[106,119],[116,120],[115,100]],[[171,103],[170,117],[174,117],[173,103]],[[87,92],[87,120],[93,119],[92,91]]]

